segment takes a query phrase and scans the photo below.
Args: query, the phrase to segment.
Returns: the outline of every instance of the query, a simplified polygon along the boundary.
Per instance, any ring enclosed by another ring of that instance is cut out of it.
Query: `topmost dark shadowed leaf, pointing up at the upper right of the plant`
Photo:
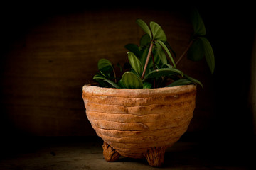
[[[196,8],[193,8],[193,10],[191,11],[191,21],[193,24],[193,30],[195,35],[206,35],[205,25]]]

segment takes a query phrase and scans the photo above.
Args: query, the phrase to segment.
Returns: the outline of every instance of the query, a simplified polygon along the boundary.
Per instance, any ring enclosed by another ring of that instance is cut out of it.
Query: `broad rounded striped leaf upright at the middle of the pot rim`
[[[124,87],[127,89],[142,89],[143,84],[142,84],[142,79],[137,77],[133,72],[125,72],[122,75],[122,84]]]

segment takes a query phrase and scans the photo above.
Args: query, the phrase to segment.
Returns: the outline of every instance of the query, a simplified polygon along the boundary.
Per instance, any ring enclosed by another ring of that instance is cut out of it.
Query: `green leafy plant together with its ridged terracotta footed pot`
[[[146,158],[149,165],[161,166],[166,148],[186,132],[193,117],[197,84],[203,87],[177,65],[186,54],[194,61],[206,57],[213,73],[214,55],[196,10],[191,42],[176,62],[159,24],[150,22],[148,26],[142,19],[136,23],[146,34],[139,46],[125,45],[129,64],[114,68],[109,60],[101,59],[99,73],[93,77],[97,86],[83,86],[82,98],[92,128],[104,140],[103,154],[108,162],[122,155]],[[120,77],[117,68],[124,72]]]

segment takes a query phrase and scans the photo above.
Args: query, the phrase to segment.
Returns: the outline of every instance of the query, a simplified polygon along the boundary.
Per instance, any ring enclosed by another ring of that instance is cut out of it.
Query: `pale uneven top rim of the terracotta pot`
[[[196,85],[189,84],[183,86],[162,87],[156,89],[115,89],[90,84],[82,86],[83,94],[92,96],[120,96],[120,97],[139,97],[139,96],[170,96],[196,91]]]

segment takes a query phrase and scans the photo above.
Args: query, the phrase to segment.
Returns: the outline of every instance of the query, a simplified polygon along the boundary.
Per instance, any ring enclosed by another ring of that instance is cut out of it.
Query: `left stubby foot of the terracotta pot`
[[[120,154],[106,142],[103,142],[102,148],[103,156],[107,162],[115,162],[117,159],[119,159]]]

